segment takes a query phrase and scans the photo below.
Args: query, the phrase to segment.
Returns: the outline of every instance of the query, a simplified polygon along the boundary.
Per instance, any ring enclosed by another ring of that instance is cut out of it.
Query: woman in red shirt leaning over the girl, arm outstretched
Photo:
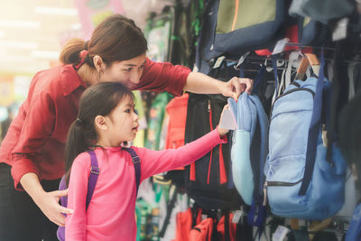
[[[88,86],[116,81],[176,96],[186,90],[227,97],[252,89],[251,79],[218,81],[185,67],[153,62],[146,51],[141,30],[116,14],[100,23],[88,42],[70,41],[60,53],[63,65],[33,77],[0,147],[0,240],[57,240],[56,225],[65,222],[61,212],[71,213],[59,205],[67,191],[58,190],[66,136]]]

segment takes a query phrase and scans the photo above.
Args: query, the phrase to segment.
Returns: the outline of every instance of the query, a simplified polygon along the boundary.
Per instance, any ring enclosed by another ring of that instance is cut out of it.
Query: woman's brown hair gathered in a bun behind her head
[[[87,42],[74,38],[69,40],[60,52],[59,60],[63,64],[77,64],[80,61],[79,53],[87,48]]]

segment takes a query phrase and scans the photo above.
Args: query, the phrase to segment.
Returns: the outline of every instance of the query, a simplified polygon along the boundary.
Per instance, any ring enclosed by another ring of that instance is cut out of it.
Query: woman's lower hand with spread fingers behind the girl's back
[[[65,226],[65,217],[62,213],[72,214],[72,209],[67,209],[60,206],[60,197],[67,196],[68,190],[54,190],[51,192],[42,192],[36,199],[34,199],[36,205],[42,210],[47,218],[51,222],[58,226]]]

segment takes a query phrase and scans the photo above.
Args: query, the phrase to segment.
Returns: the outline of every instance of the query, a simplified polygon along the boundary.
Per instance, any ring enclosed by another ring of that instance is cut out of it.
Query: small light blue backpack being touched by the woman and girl
[[[243,93],[237,102],[228,98],[228,104],[236,117],[236,130],[232,134],[231,147],[233,181],[242,199],[251,205],[254,190],[256,189],[256,197],[263,192],[263,170],[268,149],[268,117],[257,96]]]

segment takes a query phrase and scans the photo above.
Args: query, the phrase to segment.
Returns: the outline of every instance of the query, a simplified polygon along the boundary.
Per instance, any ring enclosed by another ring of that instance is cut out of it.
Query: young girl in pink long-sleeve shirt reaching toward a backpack
[[[135,240],[134,164],[122,144],[134,139],[138,126],[133,95],[120,83],[99,83],[80,98],[79,116],[70,126],[66,145],[68,208],[74,210],[66,218],[66,240]],[[141,160],[141,181],[198,160],[226,143],[227,132],[218,127],[179,149],[132,147]],[[90,148],[97,155],[100,173],[86,210]]]

